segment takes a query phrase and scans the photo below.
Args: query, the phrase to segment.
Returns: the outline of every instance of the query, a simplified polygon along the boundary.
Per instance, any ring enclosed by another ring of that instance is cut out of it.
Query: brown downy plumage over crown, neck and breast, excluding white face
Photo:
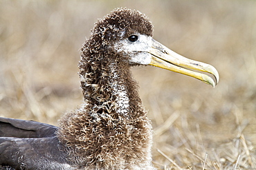
[[[152,126],[131,78],[129,56],[112,48],[116,40],[133,32],[152,36],[152,31],[147,17],[122,8],[95,23],[79,63],[85,104],[66,114],[58,131],[73,165],[81,169],[154,169]]]

